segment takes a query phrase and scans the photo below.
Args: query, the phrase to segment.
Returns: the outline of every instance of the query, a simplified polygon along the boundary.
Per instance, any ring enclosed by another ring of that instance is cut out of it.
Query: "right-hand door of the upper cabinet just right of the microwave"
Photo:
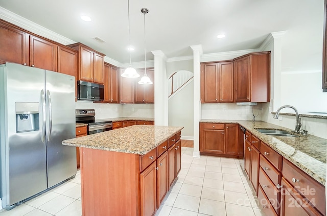
[[[109,70],[109,101],[113,104],[119,104],[119,68],[111,66]]]

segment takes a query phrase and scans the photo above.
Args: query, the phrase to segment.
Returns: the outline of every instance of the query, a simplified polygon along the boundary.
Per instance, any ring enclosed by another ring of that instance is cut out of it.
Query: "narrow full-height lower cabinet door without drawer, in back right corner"
[[[239,155],[239,143],[238,143],[239,125],[225,124],[225,131],[226,131],[225,154]]]

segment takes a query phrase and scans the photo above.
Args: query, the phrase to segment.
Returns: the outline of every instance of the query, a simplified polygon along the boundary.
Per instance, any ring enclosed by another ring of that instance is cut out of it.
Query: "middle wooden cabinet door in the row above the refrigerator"
[[[57,45],[36,36],[30,36],[30,66],[57,71]]]

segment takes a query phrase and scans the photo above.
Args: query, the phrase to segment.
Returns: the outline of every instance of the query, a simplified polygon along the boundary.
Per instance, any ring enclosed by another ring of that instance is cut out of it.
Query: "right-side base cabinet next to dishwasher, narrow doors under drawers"
[[[258,195],[260,140],[250,132],[245,131],[244,148],[244,170],[256,195]]]

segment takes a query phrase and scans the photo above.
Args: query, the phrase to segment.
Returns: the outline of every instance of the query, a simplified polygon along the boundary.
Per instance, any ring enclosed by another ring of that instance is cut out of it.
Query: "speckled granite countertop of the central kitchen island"
[[[183,127],[133,125],[62,141],[62,145],[144,155]]]

